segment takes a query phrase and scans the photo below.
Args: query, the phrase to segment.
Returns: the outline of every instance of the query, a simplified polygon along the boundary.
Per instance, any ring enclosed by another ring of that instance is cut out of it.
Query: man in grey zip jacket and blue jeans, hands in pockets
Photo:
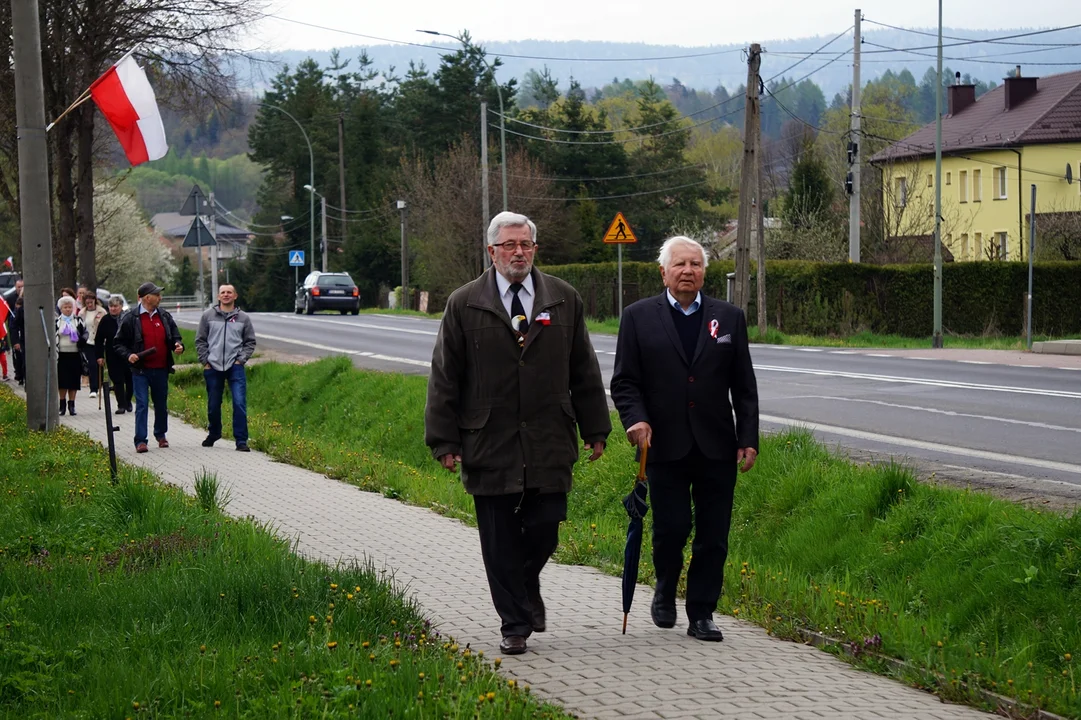
[[[199,321],[196,351],[206,381],[206,439],[203,448],[212,448],[222,439],[222,395],[229,384],[232,395],[232,438],[237,450],[248,452],[248,377],[246,363],[255,351],[255,329],[248,314],[237,308],[237,289],[222,285],[218,304],[208,308]]]

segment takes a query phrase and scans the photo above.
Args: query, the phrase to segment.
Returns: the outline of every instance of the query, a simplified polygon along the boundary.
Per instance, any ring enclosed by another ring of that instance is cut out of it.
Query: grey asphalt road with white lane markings
[[[198,315],[177,320],[193,326]],[[348,355],[374,370],[426,373],[438,321],[402,316],[253,314],[261,346]],[[615,337],[593,335],[605,383]],[[884,351],[752,346],[764,429],[799,425],[856,455],[921,469],[1081,489],[1081,371]]]

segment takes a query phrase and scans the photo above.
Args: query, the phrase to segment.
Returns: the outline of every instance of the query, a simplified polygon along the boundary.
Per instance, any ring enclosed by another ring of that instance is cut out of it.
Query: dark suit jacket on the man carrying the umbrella
[[[681,459],[693,444],[706,457],[733,463],[738,448],[758,450],[758,383],[744,314],[703,295],[695,317],[702,329],[688,358],[666,293],[623,314],[612,400],[625,428],[643,421],[653,428],[651,463]]]

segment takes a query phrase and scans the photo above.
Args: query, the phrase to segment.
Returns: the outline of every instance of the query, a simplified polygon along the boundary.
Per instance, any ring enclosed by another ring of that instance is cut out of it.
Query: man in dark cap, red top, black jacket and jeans
[[[173,372],[173,352],[184,352],[181,331],[173,316],[158,307],[161,288],[152,282],[138,286],[138,305],[120,318],[112,344],[120,357],[132,365],[135,391],[135,452],[147,451],[147,415],[154,400],[154,437],[159,448],[169,440],[169,374]]]

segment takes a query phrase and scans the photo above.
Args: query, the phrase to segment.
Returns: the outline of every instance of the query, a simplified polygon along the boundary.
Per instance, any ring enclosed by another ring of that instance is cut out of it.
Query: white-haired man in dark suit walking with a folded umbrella
[[[627,439],[650,448],[653,622],[676,625],[676,586],[693,524],[686,634],[720,641],[713,611],[729,554],[736,468],[746,472],[758,456],[758,384],[743,311],[702,294],[707,263],[706,251],[690,238],[662,245],[665,292],[623,314],[612,400]]]

